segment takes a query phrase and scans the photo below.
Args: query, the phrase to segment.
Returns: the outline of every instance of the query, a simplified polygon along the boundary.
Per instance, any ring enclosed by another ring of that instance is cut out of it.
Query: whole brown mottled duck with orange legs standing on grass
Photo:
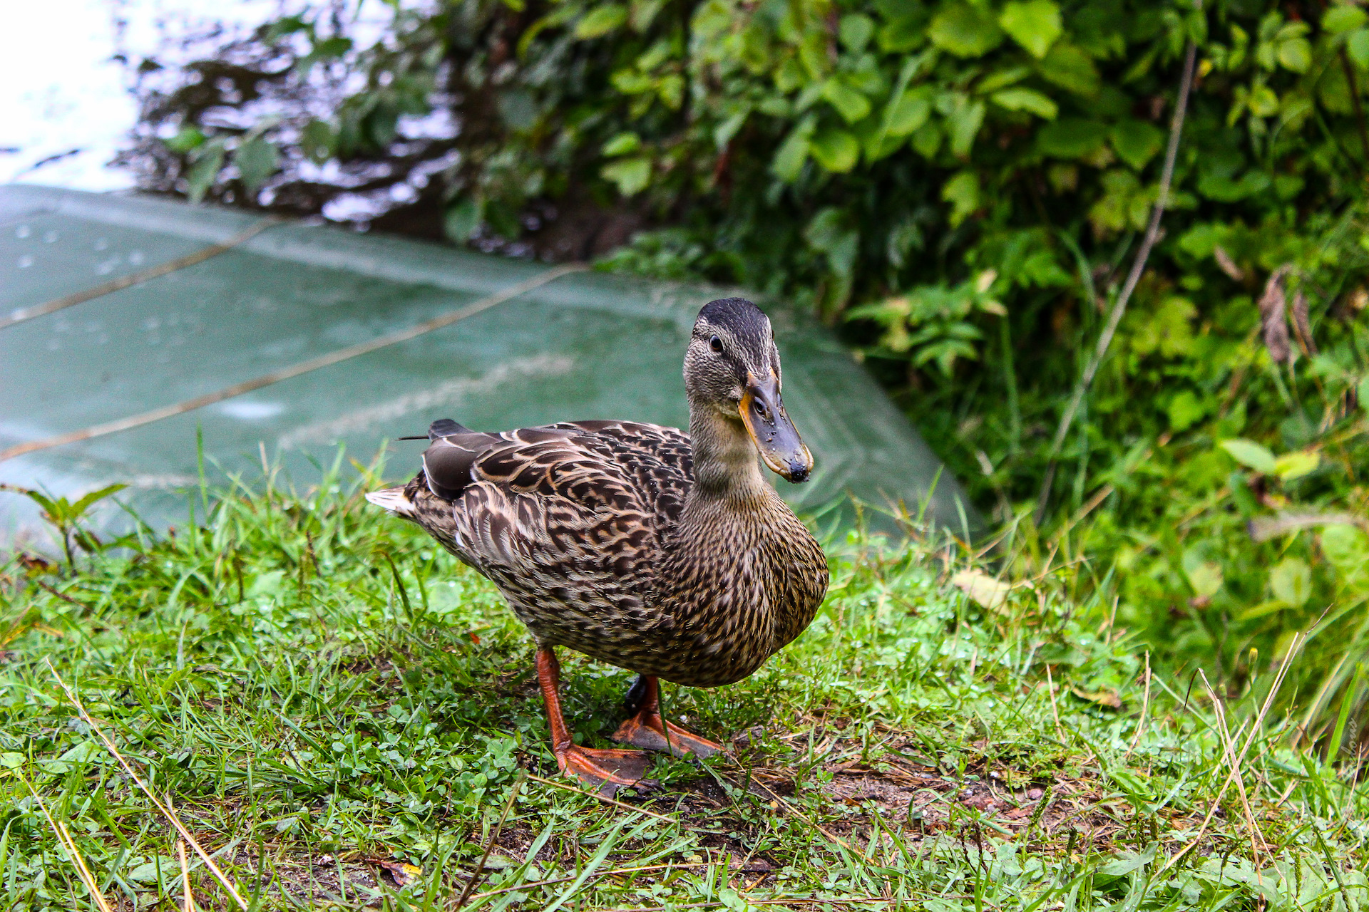
[[[641,751],[574,742],[557,645],[637,671],[619,742],[676,755],[720,745],[660,714],[657,678],[741,681],[804,632],[827,559],[767,484],[805,481],[813,457],[780,402],[779,350],[750,301],[708,304],[684,354],[689,435],[630,421],[500,433],[428,429],[423,469],[368,494],[500,588],[537,641],[537,674],[565,773],[608,789],[641,781]]]

